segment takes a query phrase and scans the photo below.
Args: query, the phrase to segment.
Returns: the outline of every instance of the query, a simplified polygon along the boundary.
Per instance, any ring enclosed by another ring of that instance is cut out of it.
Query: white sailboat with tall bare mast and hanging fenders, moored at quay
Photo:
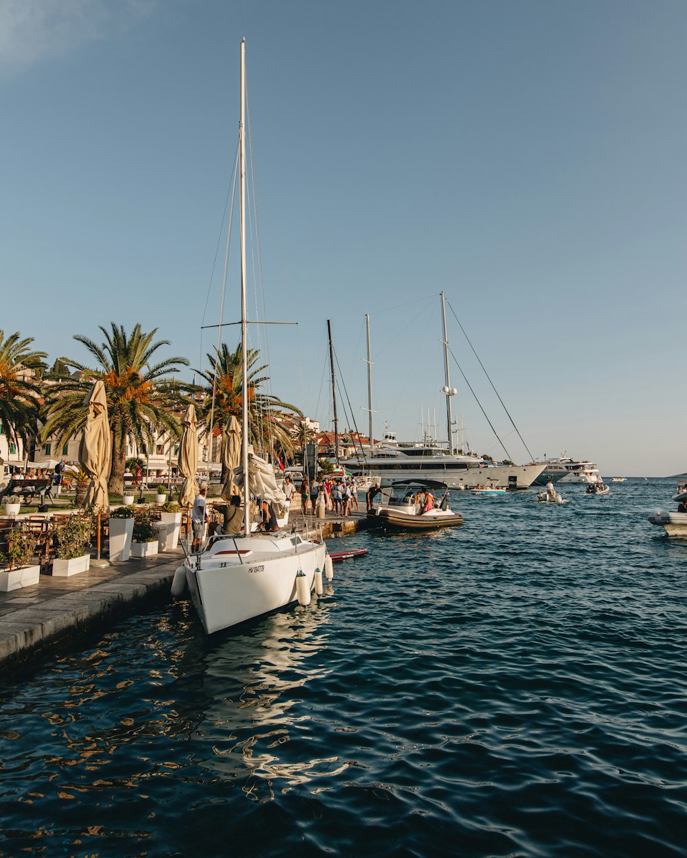
[[[243,421],[242,473],[249,467],[248,384],[246,342],[246,40],[240,50],[240,257],[241,351]],[[173,595],[185,583],[204,630],[231,628],[263,616],[296,600],[310,600],[316,572],[325,571],[323,539],[305,539],[297,533],[251,535],[250,478],[243,480],[244,535],[210,538],[200,553],[187,554],[173,581]]]

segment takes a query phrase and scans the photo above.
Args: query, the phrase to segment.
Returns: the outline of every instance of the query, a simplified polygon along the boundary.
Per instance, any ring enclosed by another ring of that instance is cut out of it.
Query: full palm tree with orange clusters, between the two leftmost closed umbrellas
[[[175,391],[179,382],[168,378],[188,366],[185,358],[167,358],[152,363],[153,354],[168,340],[153,342],[157,328],[143,333],[136,324],[128,335],[123,325],[110,323],[108,331],[100,325],[105,341],[98,345],[87,336],[75,335],[96,360],[96,366],[85,366],[70,358],[61,358],[75,375],[59,376],[52,394],[46,399],[46,424],[43,437],[58,436],[58,446],[82,430],[88,408],[84,398],[91,384],[101,378],[105,384],[107,416],[112,431],[112,469],[108,481],[111,492],[122,492],[126,463],[126,444],[133,440],[139,447],[153,443],[153,429],[161,426],[179,438],[179,419],[173,413],[178,406]]]

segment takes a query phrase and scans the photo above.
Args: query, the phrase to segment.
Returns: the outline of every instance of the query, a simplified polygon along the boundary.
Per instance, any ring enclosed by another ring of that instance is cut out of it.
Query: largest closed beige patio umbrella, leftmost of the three
[[[110,505],[107,478],[112,464],[112,438],[107,421],[105,385],[100,378],[83,402],[88,405],[88,418],[79,444],[79,464],[91,480],[83,505],[106,510]]]

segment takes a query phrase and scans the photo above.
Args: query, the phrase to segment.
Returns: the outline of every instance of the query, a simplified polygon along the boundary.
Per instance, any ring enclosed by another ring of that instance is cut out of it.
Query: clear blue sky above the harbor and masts
[[[0,0],[0,327],[84,359],[73,335],[140,322],[201,365],[244,34],[265,315],[299,323],[269,329],[273,393],[331,426],[331,318],[367,430],[367,312],[375,436],[429,409],[445,438],[443,290],[517,461],[453,312],[533,456],[687,468],[682,2]],[[471,447],[503,456],[451,376]]]

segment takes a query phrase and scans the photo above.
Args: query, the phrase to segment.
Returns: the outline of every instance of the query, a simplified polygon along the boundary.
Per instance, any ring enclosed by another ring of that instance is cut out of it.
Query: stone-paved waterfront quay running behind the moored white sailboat
[[[364,525],[364,505],[347,518],[303,517],[295,506],[289,512],[289,530],[304,535],[321,529],[325,538],[343,536]],[[0,593],[0,680],[119,619],[170,601],[174,571],[183,561],[179,547],[148,559],[101,561],[71,577],[41,573],[33,586]]]

